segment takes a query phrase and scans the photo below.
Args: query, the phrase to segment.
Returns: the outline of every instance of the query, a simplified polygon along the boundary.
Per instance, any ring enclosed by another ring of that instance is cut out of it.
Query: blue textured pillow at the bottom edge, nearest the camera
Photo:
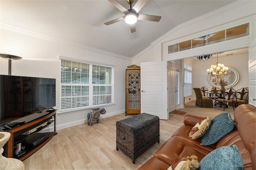
[[[197,170],[244,170],[244,164],[236,145],[222,146],[206,155]]]

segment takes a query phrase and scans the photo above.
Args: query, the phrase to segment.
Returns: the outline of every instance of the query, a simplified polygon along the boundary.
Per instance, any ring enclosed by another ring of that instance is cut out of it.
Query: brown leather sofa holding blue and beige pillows
[[[139,170],[167,170],[184,156],[196,155],[198,162],[212,150],[221,146],[236,145],[242,156],[245,170],[256,170],[256,107],[239,105],[234,111],[234,130],[217,143],[202,146],[201,138],[192,140],[189,132],[202,117],[184,116],[180,127]]]

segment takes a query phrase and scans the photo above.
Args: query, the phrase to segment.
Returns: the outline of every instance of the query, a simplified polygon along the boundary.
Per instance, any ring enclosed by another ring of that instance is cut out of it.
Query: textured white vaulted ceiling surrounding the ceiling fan
[[[126,9],[126,0],[118,0]],[[136,3],[137,0],[134,2]],[[136,32],[107,0],[1,0],[1,22],[19,28],[134,57],[174,27],[226,6],[234,0],[149,0],[138,12],[162,16],[160,22],[138,20]]]

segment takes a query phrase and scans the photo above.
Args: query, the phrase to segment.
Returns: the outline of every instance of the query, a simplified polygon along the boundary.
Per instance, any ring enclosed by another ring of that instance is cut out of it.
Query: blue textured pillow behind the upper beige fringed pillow
[[[206,146],[218,142],[234,129],[230,113],[221,113],[212,119],[209,129],[202,136],[201,145]]]

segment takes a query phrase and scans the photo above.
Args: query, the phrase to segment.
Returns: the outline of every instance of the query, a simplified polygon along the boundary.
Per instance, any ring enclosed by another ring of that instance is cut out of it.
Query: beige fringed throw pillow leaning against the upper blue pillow
[[[198,123],[196,123],[196,125],[191,129],[189,136],[193,140],[195,140],[196,138],[200,138],[207,131],[211,122],[212,122],[211,117],[204,117]]]

